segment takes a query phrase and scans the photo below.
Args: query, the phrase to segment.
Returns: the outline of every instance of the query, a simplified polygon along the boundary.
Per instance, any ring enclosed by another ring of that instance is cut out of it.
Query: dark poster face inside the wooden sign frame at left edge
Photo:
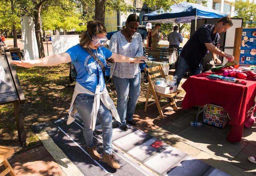
[[[5,56],[0,56],[0,104],[18,100]]]

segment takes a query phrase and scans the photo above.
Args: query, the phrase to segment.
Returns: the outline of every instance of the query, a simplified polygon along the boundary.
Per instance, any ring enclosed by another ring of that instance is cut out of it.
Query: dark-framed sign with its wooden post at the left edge
[[[21,111],[21,104],[25,103],[25,97],[16,69],[11,63],[11,53],[6,52],[5,56],[0,56],[0,60],[0,105],[7,103],[14,104],[19,141],[22,147],[27,147]]]

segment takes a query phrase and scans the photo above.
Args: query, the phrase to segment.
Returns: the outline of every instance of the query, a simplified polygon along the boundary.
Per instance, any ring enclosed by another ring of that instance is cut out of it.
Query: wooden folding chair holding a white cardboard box
[[[162,65],[159,65],[159,66],[156,66],[156,67],[151,67],[151,68],[144,68],[144,71],[145,71],[145,73],[148,71],[147,80],[148,80],[148,83],[149,83],[148,84],[148,92],[147,92],[147,98],[146,98],[146,104],[145,104],[144,112],[147,111],[147,107],[149,107],[149,106],[151,106],[153,104],[156,104],[161,119],[164,119],[164,114],[163,114],[162,110],[165,109],[166,107],[169,107],[169,106],[173,105],[173,109],[175,111],[178,111],[177,105],[175,103],[174,96],[176,96],[177,94],[181,93],[181,90],[177,90],[176,92],[169,93],[169,94],[161,94],[161,93],[155,92],[154,84],[153,84],[151,78],[155,78],[157,76],[162,76],[163,78],[165,78],[165,74],[164,74],[164,70],[163,70]],[[154,72],[154,74],[150,74],[151,72]],[[157,73],[155,73],[155,72],[157,72]],[[148,100],[149,100],[149,95],[150,94],[153,94],[155,102],[150,103],[148,105]],[[170,98],[171,102],[166,104],[166,105],[164,105],[163,107],[161,107],[160,103],[159,103],[159,100],[160,100],[161,96],[162,97]]]

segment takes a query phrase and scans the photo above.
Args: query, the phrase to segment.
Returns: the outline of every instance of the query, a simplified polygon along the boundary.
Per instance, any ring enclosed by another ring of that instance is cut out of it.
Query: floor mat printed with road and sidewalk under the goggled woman
[[[128,124],[129,130],[122,131],[114,120],[113,152],[120,164],[120,169],[115,170],[102,160],[95,161],[89,157],[83,138],[83,124],[75,121],[67,126],[66,119],[34,125],[32,129],[67,175],[228,175],[134,126]],[[102,155],[101,133],[98,123],[94,144]]]

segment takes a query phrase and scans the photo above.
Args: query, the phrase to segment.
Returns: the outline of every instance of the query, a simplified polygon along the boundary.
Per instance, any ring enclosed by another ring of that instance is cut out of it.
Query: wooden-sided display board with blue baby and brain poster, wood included
[[[256,65],[256,28],[236,28],[233,56],[238,66]]]

